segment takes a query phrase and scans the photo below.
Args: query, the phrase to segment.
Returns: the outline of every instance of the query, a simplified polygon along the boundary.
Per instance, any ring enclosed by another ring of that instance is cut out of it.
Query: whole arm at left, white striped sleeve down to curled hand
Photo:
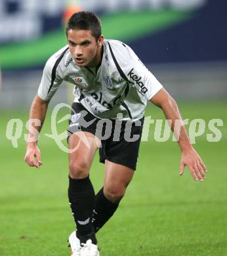
[[[28,129],[28,139],[26,143],[27,149],[24,157],[26,163],[31,167],[35,166],[39,168],[42,164],[41,153],[37,146],[37,141],[45,120],[49,101],[62,83],[62,77],[59,74],[58,65],[66,51],[67,47],[64,47],[47,60],[38,93],[31,104],[30,126]]]

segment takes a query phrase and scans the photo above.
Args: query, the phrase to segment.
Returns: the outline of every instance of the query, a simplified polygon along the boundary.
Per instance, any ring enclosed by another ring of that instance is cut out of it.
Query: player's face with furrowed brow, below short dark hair
[[[103,43],[101,35],[98,41],[90,30],[69,30],[68,45],[70,53],[78,66],[95,67],[101,60],[101,49]]]

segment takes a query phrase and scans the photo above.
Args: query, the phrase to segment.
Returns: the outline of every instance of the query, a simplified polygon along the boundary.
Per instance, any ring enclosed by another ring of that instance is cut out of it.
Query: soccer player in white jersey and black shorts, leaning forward
[[[192,177],[203,181],[206,167],[188,139],[175,100],[129,46],[104,39],[100,20],[93,12],[73,14],[66,35],[68,45],[47,61],[31,104],[30,119],[39,119],[41,125],[31,124],[25,161],[38,168],[42,164],[37,141],[29,140],[32,129],[41,131],[49,101],[62,81],[73,83],[68,148],[77,150],[69,153],[68,198],[76,230],[69,242],[73,256],[99,255],[95,234],[112,217],[133,178],[148,100],[172,120],[172,130],[180,120],[180,174],[188,166]],[[87,143],[80,140],[81,132]],[[105,177],[104,186],[95,195],[89,170],[98,147]]]

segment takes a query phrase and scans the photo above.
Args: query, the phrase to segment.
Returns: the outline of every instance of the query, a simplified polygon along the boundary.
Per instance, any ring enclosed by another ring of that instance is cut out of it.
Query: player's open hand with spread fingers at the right
[[[205,173],[207,173],[207,167],[201,160],[194,148],[184,150],[182,152],[180,160],[180,175],[184,173],[184,166],[190,169],[190,173],[195,181],[203,181],[205,179]]]

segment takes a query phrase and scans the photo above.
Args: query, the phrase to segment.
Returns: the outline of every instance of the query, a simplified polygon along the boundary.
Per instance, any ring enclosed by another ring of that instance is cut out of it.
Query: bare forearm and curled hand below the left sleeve
[[[47,113],[48,103],[49,102],[41,99],[38,95],[35,95],[31,104],[30,125],[26,142],[26,155],[24,157],[24,161],[26,161],[30,167],[35,166],[39,168],[40,165],[42,165],[41,153],[37,142]]]

